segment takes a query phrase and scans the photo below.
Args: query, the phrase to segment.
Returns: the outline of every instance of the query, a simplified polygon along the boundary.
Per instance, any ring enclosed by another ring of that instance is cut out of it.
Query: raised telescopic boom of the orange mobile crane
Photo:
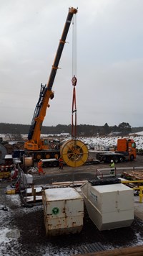
[[[44,88],[44,93],[43,93],[42,99],[39,98],[39,101],[41,101],[41,104],[38,107],[38,111],[37,111],[37,105],[36,105],[36,110],[34,111],[34,116],[33,116],[32,122],[31,122],[31,127],[29,129],[28,141],[25,143],[25,148],[28,150],[41,150],[43,148],[41,145],[41,140],[40,140],[41,126],[44,121],[44,117],[46,115],[46,108],[49,107],[49,99],[54,98],[54,92],[51,91],[51,88],[54,83],[54,78],[56,76],[56,71],[58,69],[59,60],[61,58],[61,53],[64,49],[64,44],[66,42],[66,36],[69,32],[69,27],[70,27],[71,20],[72,20],[72,17],[74,14],[77,14],[77,9],[74,9],[73,7],[69,8],[69,12],[68,12],[68,15],[66,18],[66,23],[64,25],[61,39],[59,40],[59,46],[56,51],[54,63],[51,68],[49,81]]]

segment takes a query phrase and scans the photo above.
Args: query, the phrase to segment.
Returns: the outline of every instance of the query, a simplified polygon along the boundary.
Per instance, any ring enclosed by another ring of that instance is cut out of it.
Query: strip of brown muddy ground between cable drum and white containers
[[[94,158],[94,152],[90,153],[91,157]],[[94,158],[96,160],[96,158]],[[35,163],[35,166],[37,164]],[[142,167],[143,170],[143,156],[137,155],[136,160],[130,162],[117,163],[115,168],[123,168],[122,170],[117,170],[117,175],[121,175],[124,172],[124,168],[134,168]],[[34,175],[35,184],[46,184],[52,182],[62,182],[62,181],[73,181],[73,180],[89,180],[95,178],[97,175],[97,170],[102,168],[109,168],[109,163],[95,163],[94,165],[82,165],[78,168],[71,168],[67,165],[64,165],[63,170],[56,168],[44,168],[46,172],[46,177]],[[129,170],[128,170],[129,171]],[[102,171],[104,174],[109,174],[109,170]]]

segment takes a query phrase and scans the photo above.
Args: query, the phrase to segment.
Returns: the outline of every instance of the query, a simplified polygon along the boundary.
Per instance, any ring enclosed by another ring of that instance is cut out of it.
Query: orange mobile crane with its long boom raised
[[[54,63],[51,68],[49,81],[46,86],[43,86],[41,84],[39,101],[36,104],[34,116],[31,121],[28,140],[24,143],[25,152],[27,152],[29,155],[33,155],[35,160],[39,160],[40,158],[57,158],[60,155],[59,150],[51,150],[48,140],[41,140],[40,136],[41,126],[44,121],[44,117],[46,116],[46,108],[49,107],[49,100],[54,98],[54,91],[51,91],[51,88],[54,83],[59,60],[61,58],[61,53],[63,51],[64,44],[66,42],[66,36],[68,34],[71,20],[74,14],[77,14],[77,9],[74,9],[73,7],[69,8],[66,23],[64,25],[64,30],[61,35],[61,40],[59,40],[59,46],[56,51]]]

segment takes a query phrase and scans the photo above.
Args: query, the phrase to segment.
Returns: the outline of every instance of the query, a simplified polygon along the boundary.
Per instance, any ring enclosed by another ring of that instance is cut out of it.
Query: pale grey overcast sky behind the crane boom
[[[31,124],[69,7],[77,13],[77,124],[143,126],[142,0],[0,0],[0,122]],[[71,124],[72,25],[43,125]]]

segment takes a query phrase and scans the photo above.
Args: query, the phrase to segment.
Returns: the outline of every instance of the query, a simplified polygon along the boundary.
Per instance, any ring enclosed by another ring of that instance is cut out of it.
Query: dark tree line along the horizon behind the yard
[[[7,124],[0,123],[0,134],[28,134],[29,133],[28,124]],[[122,122],[121,124],[109,126],[107,123],[103,126],[89,125],[89,124],[79,124],[77,125],[77,136],[104,136],[112,134],[127,135],[129,133],[141,132],[143,127],[131,127],[129,123]],[[56,126],[41,127],[41,134],[71,134],[71,124],[57,124]]]

